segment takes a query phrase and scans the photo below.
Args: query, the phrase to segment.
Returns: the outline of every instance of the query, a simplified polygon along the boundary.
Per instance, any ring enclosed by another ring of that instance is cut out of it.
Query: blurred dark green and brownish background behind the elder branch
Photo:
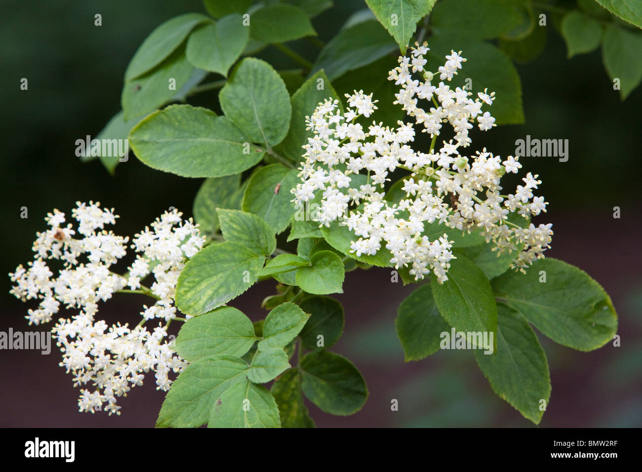
[[[360,0],[335,1],[313,24],[327,40]],[[6,274],[31,260],[35,232],[53,208],[65,213],[76,200],[98,200],[121,216],[114,230],[132,235],[170,206],[191,216],[201,179],[184,179],[130,159],[110,177],[100,162],[81,164],[76,139],[96,135],[120,109],[123,74],[143,39],[161,22],[185,12],[204,12],[200,1],[4,1],[0,19],[3,192],[0,252],[0,330],[29,328],[28,308],[9,295]],[[94,26],[101,13],[102,26]],[[552,222],[555,236],[547,256],[586,270],[611,295],[619,315],[621,347],[607,344],[580,353],[538,333],[551,369],[553,392],[540,427],[642,425],[642,308],[639,175],[642,144],[640,88],[621,102],[612,90],[600,51],[568,60],[566,46],[550,28],[544,54],[517,66],[523,89],[525,125],[494,128],[474,140],[500,155],[514,153],[526,134],[569,139],[569,160],[523,158],[525,171],[539,173],[550,202],[539,222]],[[299,51],[307,53],[315,49]],[[642,53],[642,51],[641,51]],[[261,53],[278,68],[297,67],[271,48]],[[465,56],[465,53],[464,53]],[[314,56],[308,56],[313,58]],[[28,91],[21,91],[21,78]],[[207,96],[200,98],[207,106]],[[381,97],[379,97],[381,100]],[[210,104],[210,106],[213,106]],[[21,207],[28,219],[21,219]],[[612,217],[613,207],[621,218]],[[363,372],[367,405],[350,417],[326,415],[314,405],[318,426],[524,426],[534,427],[490,389],[467,351],[442,351],[404,363],[394,330],[397,306],[413,286],[390,282],[389,270],[347,275],[345,333],[333,350]],[[254,286],[234,301],[252,319],[265,317],[259,304],[273,283]],[[108,322],[137,322],[137,295],[116,295],[99,315]],[[67,314],[71,316],[71,313]],[[177,329],[178,326],[173,326]],[[132,389],[120,417],[78,412],[78,389],[58,366],[54,346],[39,351],[0,351],[0,426],[139,426],[155,423],[164,394],[153,374]],[[390,411],[391,399],[399,411]]]

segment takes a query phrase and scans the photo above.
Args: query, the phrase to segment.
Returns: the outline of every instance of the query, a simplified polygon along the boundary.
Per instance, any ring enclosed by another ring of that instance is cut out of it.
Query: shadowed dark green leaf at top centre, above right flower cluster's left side
[[[397,44],[376,21],[363,21],[339,33],[321,50],[311,75],[324,69],[329,80],[392,53]]]

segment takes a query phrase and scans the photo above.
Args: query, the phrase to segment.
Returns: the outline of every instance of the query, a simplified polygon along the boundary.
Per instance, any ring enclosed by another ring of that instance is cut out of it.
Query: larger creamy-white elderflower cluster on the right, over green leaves
[[[354,91],[346,94],[348,107],[340,110],[338,100],[325,100],[306,117],[313,137],[303,146],[304,162],[299,168],[302,182],[292,189],[297,205],[320,197],[320,209],[311,219],[329,227],[338,220],[359,239],[351,241],[356,256],[374,256],[385,248],[395,268],[408,267],[415,280],[433,271],[439,283],[448,279],[447,270],[455,258],[453,241],[447,234],[431,240],[425,232],[428,225],[445,225],[462,232],[479,229],[494,250],[519,252],[512,267],[524,272],[542,252],[550,247],[551,225],[532,223],[524,228],[508,221],[508,214],[517,212],[524,218],[546,211],[543,197],[535,197],[533,189],[541,184],[537,175],[528,173],[524,185],[514,194],[501,195],[499,180],[521,168],[518,157],[501,157],[487,152],[462,155],[471,144],[469,130],[476,124],[482,131],[495,126],[495,119],[484,105],[492,105],[494,92],[472,92],[460,87],[451,89],[447,83],[462,63],[461,51],[451,51],[444,66],[431,73],[425,66],[427,44],[412,48],[410,57],[399,57],[399,66],[390,71],[388,80],[400,85],[394,104],[399,104],[412,121],[397,121],[397,128],[372,122],[367,130],[356,123],[361,116],[369,118],[377,109],[372,94]],[[413,74],[421,77],[413,78]],[[433,85],[435,76],[440,82]],[[420,100],[427,107],[420,107]],[[434,106],[432,106],[434,105]],[[437,136],[444,124],[453,129],[453,138],[442,141]],[[414,150],[415,127],[420,125],[432,143],[428,152]],[[405,198],[386,199],[385,182],[395,170],[410,172],[403,179]],[[526,223],[527,220],[523,220]],[[434,231],[431,231],[434,234]]]

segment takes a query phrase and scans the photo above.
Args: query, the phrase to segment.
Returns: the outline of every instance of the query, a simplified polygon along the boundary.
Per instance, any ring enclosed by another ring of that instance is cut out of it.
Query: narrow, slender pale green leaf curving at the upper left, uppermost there
[[[158,26],[134,54],[125,71],[125,82],[130,82],[158,66],[183,44],[195,26],[206,21],[211,20],[201,13],[186,13]]]

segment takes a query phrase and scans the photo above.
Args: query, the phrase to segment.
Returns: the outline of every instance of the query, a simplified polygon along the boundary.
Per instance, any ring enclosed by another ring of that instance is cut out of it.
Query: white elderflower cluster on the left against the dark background
[[[169,371],[180,372],[186,365],[162,340],[169,320],[176,317],[178,274],[186,259],[203,247],[205,238],[191,218],[182,221],[180,212],[166,212],[151,229],[135,235],[130,247],[136,258],[125,276],[118,275],[110,269],[125,256],[129,238],[104,229],[116,222],[114,209],[93,202],[76,205],[71,211],[76,229],[72,223],[64,225],[65,214],[57,209],[47,215],[49,229],[37,233],[34,260],[9,274],[15,283],[10,292],[22,301],[40,300],[37,310],[28,310],[30,324],[50,321],[61,305],[80,309],[71,319],[58,319],[51,330],[62,351],[60,365],[73,374],[74,387],[94,387],[80,390],[80,411],[104,408],[109,414],[120,414],[116,398],[142,385],[144,372],[154,371],[157,389],[168,390]],[[54,265],[60,267],[57,277],[53,277]],[[150,274],[154,281],[147,288],[141,282]],[[98,301],[107,301],[119,290],[136,290],[157,299],[152,306],[143,306],[143,320],[133,329],[96,320]],[[150,332],[143,324],[155,318],[166,325],[159,322]]]

